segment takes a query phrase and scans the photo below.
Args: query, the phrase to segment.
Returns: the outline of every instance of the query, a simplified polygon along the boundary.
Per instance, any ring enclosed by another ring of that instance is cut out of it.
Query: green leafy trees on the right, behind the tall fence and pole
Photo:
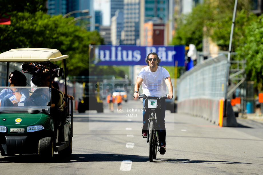
[[[202,50],[202,40],[210,37],[220,50],[228,50],[235,0],[204,0],[203,4],[182,15],[177,22],[172,44],[195,44]],[[263,15],[251,12],[251,1],[238,1],[232,51],[234,59],[246,60],[247,79],[263,92]]]

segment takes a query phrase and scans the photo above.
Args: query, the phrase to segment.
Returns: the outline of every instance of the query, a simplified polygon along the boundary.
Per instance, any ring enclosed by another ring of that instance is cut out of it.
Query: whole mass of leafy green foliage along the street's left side
[[[71,23],[73,18],[47,15],[46,1],[1,0],[0,12],[11,15],[11,25],[0,25],[0,53],[13,48],[55,48],[69,55],[68,75],[88,76],[90,72],[124,77],[118,68],[89,65],[89,44],[103,44],[103,38],[97,31],[84,30],[86,23],[82,21],[77,26],[76,22]]]

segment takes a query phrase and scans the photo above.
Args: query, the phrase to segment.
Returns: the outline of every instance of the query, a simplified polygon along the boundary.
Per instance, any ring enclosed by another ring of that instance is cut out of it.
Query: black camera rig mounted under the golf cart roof
[[[28,74],[41,74],[44,70],[47,69],[48,71],[52,71],[52,75],[55,77],[61,77],[63,68],[60,68],[57,64],[53,64],[51,62],[41,62],[41,63],[23,63],[22,70],[23,73]]]

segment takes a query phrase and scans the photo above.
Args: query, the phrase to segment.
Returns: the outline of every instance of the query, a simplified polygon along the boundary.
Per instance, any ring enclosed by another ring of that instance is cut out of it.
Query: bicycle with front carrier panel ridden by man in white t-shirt
[[[156,159],[157,150],[159,152],[159,136],[157,130],[157,119],[156,112],[161,111],[161,100],[167,99],[167,96],[161,97],[147,97],[145,94],[140,94],[139,99],[145,99],[144,110],[149,111],[149,123],[148,123],[148,134],[147,143],[149,143],[149,160]],[[149,103],[150,102],[150,103]]]

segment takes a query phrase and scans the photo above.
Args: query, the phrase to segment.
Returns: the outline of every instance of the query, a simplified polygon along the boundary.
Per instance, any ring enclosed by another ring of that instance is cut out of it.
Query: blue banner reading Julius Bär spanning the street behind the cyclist
[[[156,52],[161,59],[160,66],[184,66],[184,46],[136,46],[136,45],[96,45],[96,65],[146,65],[145,58]]]

